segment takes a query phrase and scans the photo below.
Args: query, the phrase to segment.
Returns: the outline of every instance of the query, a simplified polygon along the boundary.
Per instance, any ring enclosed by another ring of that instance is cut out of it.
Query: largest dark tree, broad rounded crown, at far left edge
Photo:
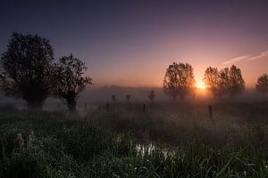
[[[50,93],[54,51],[44,37],[13,33],[0,61],[0,87],[6,96],[21,98],[29,108],[42,108]]]

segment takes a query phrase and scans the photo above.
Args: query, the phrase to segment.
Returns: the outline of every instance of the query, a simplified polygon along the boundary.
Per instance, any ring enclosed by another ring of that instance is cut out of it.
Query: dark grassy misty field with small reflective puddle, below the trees
[[[268,103],[0,111],[0,177],[268,177]]]

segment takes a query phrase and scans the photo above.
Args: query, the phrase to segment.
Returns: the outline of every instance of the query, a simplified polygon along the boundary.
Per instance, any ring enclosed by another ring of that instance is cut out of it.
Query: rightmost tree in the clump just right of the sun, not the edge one
[[[242,93],[245,89],[245,81],[242,77],[241,70],[234,65],[229,70],[228,89],[230,97]]]

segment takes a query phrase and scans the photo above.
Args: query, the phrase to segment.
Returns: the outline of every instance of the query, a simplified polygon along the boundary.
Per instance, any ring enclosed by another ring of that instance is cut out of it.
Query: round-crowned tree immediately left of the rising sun
[[[171,95],[173,100],[177,96],[184,100],[195,85],[193,68],[188,63],[175,63],[166,69],[163,78],[163,92]]]

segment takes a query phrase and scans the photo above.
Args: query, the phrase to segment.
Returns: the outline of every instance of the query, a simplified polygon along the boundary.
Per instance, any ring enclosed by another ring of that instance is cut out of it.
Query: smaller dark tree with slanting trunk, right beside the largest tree
[[[76,112],[79,93],[92,85],[92,78],[83,76],[86,70],[85,63],[72,55],[54,64],[54,96],[65,101],[71,112]]]

